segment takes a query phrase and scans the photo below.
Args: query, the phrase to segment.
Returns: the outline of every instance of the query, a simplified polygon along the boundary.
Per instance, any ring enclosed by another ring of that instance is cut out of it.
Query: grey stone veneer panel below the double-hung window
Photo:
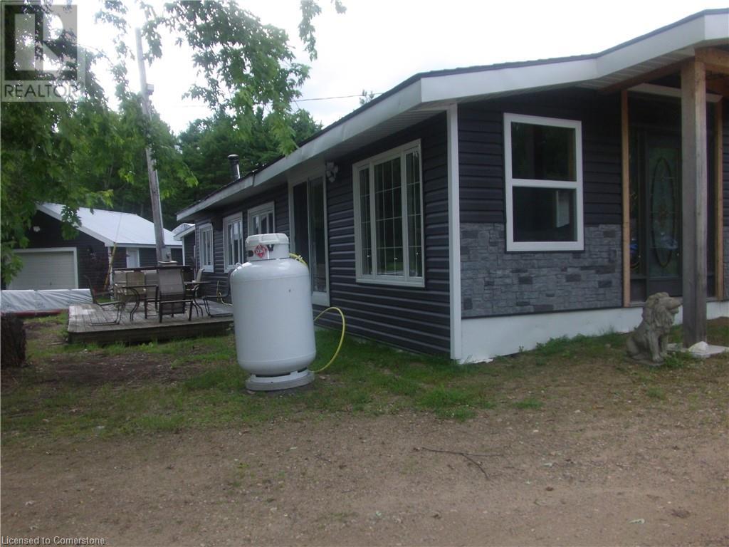
[[[461,224],[462,317],[622,306],[620,236],[585,226],[582,252],[506,252],[503,224]]]

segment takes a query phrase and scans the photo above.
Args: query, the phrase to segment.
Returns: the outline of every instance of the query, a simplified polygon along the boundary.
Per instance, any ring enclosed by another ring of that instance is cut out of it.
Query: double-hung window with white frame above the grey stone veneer
[[[504,115],[507,251],[581,251],[582,125]]]

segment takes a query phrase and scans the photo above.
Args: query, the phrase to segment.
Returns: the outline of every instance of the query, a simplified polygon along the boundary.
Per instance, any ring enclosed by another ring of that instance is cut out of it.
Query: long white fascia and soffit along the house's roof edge
[[[729,9],[691,15],[602,53],[416,74],[306,141],[300,148],[183,209],[195,220],[286,181],[286,174],[324,164],[382,136],[408,128],[450,104],[577,85],[608,90],[692,58],[701,47],[729,43]]]

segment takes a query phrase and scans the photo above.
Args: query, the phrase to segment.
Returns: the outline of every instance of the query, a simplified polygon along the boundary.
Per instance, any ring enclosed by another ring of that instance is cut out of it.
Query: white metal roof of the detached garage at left
[[[61,220],[63,205],[58,203],[39,203],[37,209],[56,220]],[[117,211],[104,211],[87,207],[79,207],[78,211],[81,225],[77,226],[79,232],[103,241],[106,247],[156,247],[155,225],[138,214],[120,213]],[[170,230],[164,230],[165,246],[182,247],[182,243],[175,241]]]

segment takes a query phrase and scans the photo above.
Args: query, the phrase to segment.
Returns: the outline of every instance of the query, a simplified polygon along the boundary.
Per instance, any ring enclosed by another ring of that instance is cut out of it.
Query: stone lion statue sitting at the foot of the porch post
[[[681,302],[668,296],[668,292],[650,295],[643,306],[643,320],[628,341],[628,355],[635,360],[649,360],[660,365],[668,351],[668,333]]]

